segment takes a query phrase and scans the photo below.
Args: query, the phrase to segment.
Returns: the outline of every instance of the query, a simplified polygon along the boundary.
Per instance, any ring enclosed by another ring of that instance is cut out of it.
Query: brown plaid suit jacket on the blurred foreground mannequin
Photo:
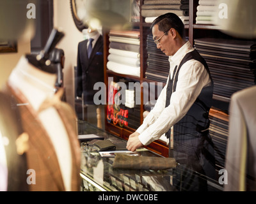
[[[28,100],[17,89],[7,87],[17,103],[27,104]],[[54,104],[68,133],[72,152],[72,191],[79,191],[81,151],[76,133],[76,115],[72,108],[62,101]],[[29,184],[29,191],[65,191],[61,170],[51,138],[44,129],[31,105],[19,106],[20,122],[29,135],[29,149],[26,152],[28,169],[35,170],[36,184]]]

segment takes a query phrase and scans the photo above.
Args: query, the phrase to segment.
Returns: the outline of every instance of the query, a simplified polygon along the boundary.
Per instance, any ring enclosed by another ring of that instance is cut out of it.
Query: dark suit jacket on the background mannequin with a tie
[[[103,37],[100,35],[95,43],[90,59],[87,55],[88,40],[81,41],[77,50],[77,96],[84,94],[84,104],[93,105],[93,90],[97,82],[104,82]]]

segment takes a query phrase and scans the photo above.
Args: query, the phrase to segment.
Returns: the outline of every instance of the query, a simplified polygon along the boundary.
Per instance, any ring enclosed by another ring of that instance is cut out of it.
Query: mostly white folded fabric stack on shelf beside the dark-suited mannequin
[[[107,68],[116,73],[140,77],[140,31],[109,32]]]

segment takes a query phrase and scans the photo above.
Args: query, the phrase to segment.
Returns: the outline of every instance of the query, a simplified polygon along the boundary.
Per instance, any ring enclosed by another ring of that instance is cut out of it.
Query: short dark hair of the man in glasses
[[[159,31],[163,31],[164,33],[171,28],[174,28],[180,34],[181,38],[185,38],[184,24],[175,13],[165,13],[164,15],[157,17],[152,22],[150,27],[151,30],[154,25],[158,25]]]

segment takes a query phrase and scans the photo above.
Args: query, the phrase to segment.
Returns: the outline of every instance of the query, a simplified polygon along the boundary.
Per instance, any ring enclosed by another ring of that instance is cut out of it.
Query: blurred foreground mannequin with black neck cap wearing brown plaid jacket
[[[40,56],[22,56],[6,87],[17,100],[22,127],[29,136],[28,169],[35,170],[36,175],[29,191],[79,190],[76,115],[61,102],[63,89],[56,92],[57,76],[48,59],[60,40],[58,36],[54,30]]]

